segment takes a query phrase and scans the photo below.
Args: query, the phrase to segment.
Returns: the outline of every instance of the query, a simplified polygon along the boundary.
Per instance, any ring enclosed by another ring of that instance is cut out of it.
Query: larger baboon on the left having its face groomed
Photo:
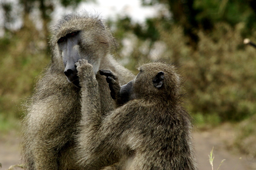
[[[51,64],[36,85],[24,119],[22,158],[25,169],[100,169],[111,160],[87,164],[87,167],[76,163],[74,148],[81,119],[81,97],[75,63],[84,58],[92,64],[101,113],[113,110],[116,104],[109,94],[105,76],[98,70],[113,70],[120,85],[134,76],[113,59],[114,37],[98,16],[87,13],[63,16],[53,27],[50,45]]]

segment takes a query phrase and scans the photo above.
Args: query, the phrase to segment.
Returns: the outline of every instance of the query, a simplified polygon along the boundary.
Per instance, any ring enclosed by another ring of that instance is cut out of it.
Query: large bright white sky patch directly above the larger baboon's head
[[[76,11],[86,10],[91,13],[100,13],[105,19],[116,20],[117,16],[130,16],[133,22],[143,22],[145,18],[155,17],[163,5],[142,6],[141,0],[96,0],[96,2],[82,2]],[[71,9],[57,7],[54,16],[60,18]]]

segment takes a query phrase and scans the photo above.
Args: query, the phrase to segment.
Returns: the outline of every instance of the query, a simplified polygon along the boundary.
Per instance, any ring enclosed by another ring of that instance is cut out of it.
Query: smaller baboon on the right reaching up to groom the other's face
[[[173,65],[159,61],[144,64],[136,78],[121,87],[110,71],[100,70],[107,76],[111,96],[121,99],[118,104],[128,101],[106,114],[100,109],[92,65],[86,60],[76,65],[82,93],[78,139],[82,163],[97,162],[111,152],[118,161],[104,170],[197,169],[191,120],[181,106],[181,79]]]

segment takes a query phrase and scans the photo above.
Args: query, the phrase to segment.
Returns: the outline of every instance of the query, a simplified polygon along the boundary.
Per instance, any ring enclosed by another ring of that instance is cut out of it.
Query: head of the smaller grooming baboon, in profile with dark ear
[[[143,64],[136,78],[121,86],[120,96],[124,101],[147,97],[176,100],[180,82],[180,76],[171,64],[161,61]]]

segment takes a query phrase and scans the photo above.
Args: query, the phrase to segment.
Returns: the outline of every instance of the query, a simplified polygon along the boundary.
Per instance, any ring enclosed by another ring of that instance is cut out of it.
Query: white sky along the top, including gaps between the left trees
[[[0,2],[12,2],[14,5],[14,11],[18,11],[15,8],[20,8],[18,4],[18,0],[0,0]],[[95,0],[95,2],[82,2],[80,5],[74,10],[71,7],[64,8],[60,5],[59,1],[53,1],[55,4],[55,10],[52,12],[52,22],[48,25],[49,28],[54,25],[61,16],[71,13],[71,12],[79,12],[82,10],[86,10],[90,13],[98,13],[103,16],[104,19],[111,19],[112,21],[116,21],[117,18],[122,18],[125,16],[130,16],[132,22],[139,22],[143,24],[145,18],[156,17],[159,15],[159,11],[166,9],[163,4],[158,4],[154,6],[142,6],[141,0]],[[20,12],[20,11],[19,11]],[[20,12],[21,13],[21,12]],[[2,19],[3,13],[0,11],[0,37],[3,36],[3,23]],[[40,11],[38,9],[34,9],[30,14],[30,18],[35,22],[36,28],[42,29],[42,19],[39,19]],[[22,24],[22,15],[16,15],[16,21],[10,25],[11,29],[16,30],[19,29]]]

